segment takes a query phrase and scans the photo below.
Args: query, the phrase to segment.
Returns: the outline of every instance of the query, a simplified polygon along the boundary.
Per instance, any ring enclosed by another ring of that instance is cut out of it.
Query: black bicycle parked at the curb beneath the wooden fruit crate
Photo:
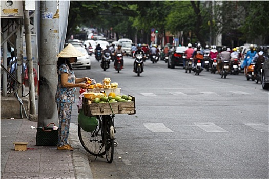
[[[114,115],[96,116],[99,125],[93,132],[84,131],[78,124],[78,137],[84,149],[93,156],[106,154],[108,163],[112,163],[114,155]]]

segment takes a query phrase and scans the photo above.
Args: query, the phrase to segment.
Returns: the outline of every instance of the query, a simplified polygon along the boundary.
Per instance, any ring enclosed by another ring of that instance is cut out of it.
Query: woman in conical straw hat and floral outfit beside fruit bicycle
[[[89,88],[90,78],[76,78],[71,63],[77,61],[77,57],[84,56],[72,44],[68,44],[56,57],[58,85],[55,95],[59,114],[58,150],[73,150],[67,143],[71,122],[72,105],[75,103],[76,87]],[[86,83],[82,83],[86,82]]]

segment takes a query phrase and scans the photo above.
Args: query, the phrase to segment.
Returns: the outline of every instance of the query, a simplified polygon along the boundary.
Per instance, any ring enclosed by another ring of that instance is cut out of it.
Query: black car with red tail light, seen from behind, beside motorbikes
[[[169,53],[169,58],[167,61],[167,67],[174,69],[175,66],[183,66],[183,54],[188,49],[188,47],[181,46],[173,49]]]

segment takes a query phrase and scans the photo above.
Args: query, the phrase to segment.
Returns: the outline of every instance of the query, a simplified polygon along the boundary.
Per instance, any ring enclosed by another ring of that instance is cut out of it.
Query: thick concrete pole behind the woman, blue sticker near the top
[[[58,126],[55,93],[58,82],[56,55],[59,53],[59,18],[53,18],[56,11],[57,1],[40,1],[38,127],[51,122]]]

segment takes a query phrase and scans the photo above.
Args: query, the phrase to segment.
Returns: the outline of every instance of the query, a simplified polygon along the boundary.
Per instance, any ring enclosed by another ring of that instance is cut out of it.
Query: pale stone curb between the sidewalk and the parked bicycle
[[[69,142],[74,147],[72,154],[72,161],[74,167],[75,177],[77,179],[91,179],[93,178],[92,170],[89,165],[87,151],[80,144],[77,125],[71,123],[69,129]]]

